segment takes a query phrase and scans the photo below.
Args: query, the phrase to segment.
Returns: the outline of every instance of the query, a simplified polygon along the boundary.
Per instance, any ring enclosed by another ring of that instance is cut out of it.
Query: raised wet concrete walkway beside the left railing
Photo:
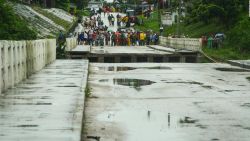
[[[88,61],[57,60],[0,95],[0,141],[79,141]]]

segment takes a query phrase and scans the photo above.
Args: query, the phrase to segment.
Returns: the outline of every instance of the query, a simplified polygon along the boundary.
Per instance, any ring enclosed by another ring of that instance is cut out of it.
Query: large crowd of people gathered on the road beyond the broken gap
[[[121,27],[126,25],[121,20],[122,16],[120,14],[113,15],[107,13],[107,16],[104,16],[104,18],[107,18],[109,26],[116,24],[118,27]],[[131,28],[118,28],[118,31],[109,30],[99,13],[85,19],[83,26],[85,31],[78,34],[78,44],[90,46],[144,46],[157,44],[159,41],[159,35],[152,31],[134,31]]]

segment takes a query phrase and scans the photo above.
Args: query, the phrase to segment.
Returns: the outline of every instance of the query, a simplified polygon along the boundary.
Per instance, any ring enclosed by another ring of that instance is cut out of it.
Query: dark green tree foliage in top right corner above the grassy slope
[[[187,17],[205,23],[222,22],[231,26],[238,21],[239,15],[247,11],[248,0],[184,0]]]

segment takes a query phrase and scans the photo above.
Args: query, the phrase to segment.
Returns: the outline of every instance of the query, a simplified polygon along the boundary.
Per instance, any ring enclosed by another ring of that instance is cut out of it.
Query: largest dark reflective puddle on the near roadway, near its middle
[[[140,88],[141,86],[151,85],[153,83],[155,82],[143,79],[113,79],[113,84],[115,85],[130,86],[134,88]]]

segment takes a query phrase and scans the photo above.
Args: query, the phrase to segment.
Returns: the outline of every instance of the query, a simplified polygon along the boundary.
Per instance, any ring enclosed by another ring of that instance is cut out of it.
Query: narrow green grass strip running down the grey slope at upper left
[[[37,6],[34,6],[32,7],[35,11],[37,11],[38,13],[46,16],[47,18],[51,19],[53,22],[55,22],[57,25],[60,25],[62,27],[64,27],[66,29],[66,31],[68,31],[71,27],[71,23],[68,22],[68,21],[65,21],[55,15],[53,15],[52,13],[49,13],[47,12],[46,10],[40,8],[40,7],[37,7]]]

